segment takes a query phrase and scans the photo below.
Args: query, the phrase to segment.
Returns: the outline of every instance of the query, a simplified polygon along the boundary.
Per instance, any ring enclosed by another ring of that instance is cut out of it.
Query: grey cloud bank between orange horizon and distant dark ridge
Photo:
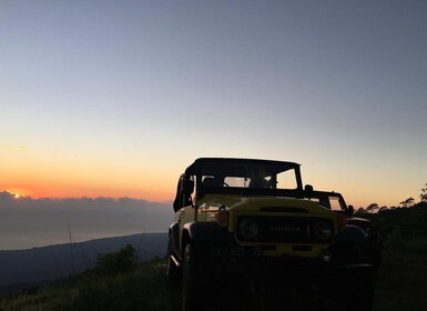
[[[0,192],[0,249],[166,231],[172,203],[132,198],[14,198]]]

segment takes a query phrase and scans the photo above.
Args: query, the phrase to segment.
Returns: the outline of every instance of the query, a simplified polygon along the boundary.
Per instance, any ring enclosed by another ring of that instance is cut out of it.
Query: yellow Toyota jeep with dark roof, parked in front
[[[234,272],[274,287],[315,284],[346,310],[369,310],[366,231],[347,223],[346,205],[334,212],[323,202],[326,193],[304,188],[294,162],[195,160],[179,179],[169,229],[166,273],[182,281],[183,310],[203,310]]]

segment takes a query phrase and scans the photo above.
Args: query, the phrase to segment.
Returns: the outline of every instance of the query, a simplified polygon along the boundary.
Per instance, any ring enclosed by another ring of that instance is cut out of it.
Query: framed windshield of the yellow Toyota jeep
[[[299,164],[294,162],[199,159],[194,164],[197,191],[203,194],[301,197]]]

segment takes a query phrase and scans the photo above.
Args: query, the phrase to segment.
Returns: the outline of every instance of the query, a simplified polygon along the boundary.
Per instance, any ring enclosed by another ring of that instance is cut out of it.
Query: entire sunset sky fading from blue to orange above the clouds
[[[0,191],[173,199],[199,157],[348,203],[427,182],[426,1],[0,2]]]

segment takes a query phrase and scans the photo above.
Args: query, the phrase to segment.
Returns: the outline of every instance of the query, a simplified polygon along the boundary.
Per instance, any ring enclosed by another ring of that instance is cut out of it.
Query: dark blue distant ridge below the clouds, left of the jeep
[[[28,250],[0,251],[0,293],[17,284],[39,283],[68,278],[94,264],[99,253],[110,253],[131,244],[141,260],[164,257],[167,233],[139,233],[85,242],[48,245]]]

